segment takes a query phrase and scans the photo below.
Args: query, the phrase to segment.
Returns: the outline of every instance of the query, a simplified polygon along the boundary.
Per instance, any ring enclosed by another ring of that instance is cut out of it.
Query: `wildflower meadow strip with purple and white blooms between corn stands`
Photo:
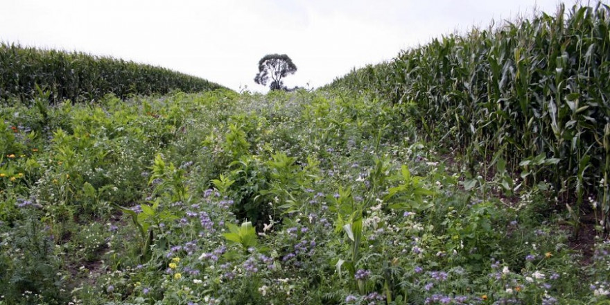
[[[0,108],[0,304],[610,302],[553,189],[464,187],[383,99],[36,103]]]

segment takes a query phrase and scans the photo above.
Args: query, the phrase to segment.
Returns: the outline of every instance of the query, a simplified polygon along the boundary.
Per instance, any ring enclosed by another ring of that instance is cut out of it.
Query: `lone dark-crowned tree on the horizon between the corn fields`
[[[284,82],[281,78],[294,74],[297,71],[297,66],[293,64],[286,54],[268,54],[259,60],[259,73],[256,74],[254,82],[260,85],[267,85],[269,77],[273,80],[269,86],[272,90],[280,90],[284,87]]]

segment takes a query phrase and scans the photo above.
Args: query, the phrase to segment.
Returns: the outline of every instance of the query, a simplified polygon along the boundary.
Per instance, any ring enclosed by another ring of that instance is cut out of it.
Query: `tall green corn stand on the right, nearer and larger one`
[[[513,177],[521,176],[507,189],[552,186],[576,220],[587,199],[595,198],[599,224],[610,228],[606,4],[560,6],[555,15],[448,35],[391,62],[354,70],[331,87],[404,105],[428,139],[467,159],[467,171],[501,162]]]

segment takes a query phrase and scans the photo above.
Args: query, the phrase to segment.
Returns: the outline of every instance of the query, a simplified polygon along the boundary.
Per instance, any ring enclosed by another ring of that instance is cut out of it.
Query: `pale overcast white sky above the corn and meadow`
[[[236,91],[266,54],[288,55],[288,87],[317,88],[351,69],[558,0],[0,0],[0,41],[110,55]],[[567,3],[570,5],[573,2]]]

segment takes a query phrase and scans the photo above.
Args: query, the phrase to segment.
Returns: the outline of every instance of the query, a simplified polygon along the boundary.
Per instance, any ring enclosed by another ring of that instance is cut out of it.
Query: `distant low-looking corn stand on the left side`
[[[29,103],[40,89],[50,102],[98,100],[105,94],[166,94],[180,89],[198,92],[222,86],[148,64],[137,64],[86,53],[66,53],[0,44],[0,101],[19,98]]]

